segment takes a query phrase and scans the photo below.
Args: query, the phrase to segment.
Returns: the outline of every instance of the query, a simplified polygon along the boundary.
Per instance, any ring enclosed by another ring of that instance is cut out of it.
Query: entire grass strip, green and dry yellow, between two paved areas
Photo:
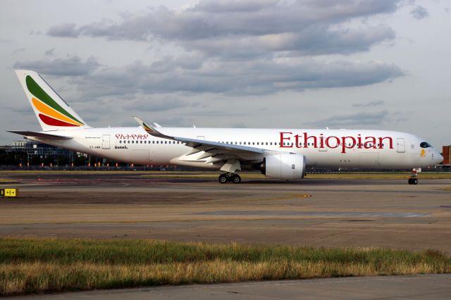
[[[0,295],[425,273],[451,273],[451,256],[433,250],[0,238]]]

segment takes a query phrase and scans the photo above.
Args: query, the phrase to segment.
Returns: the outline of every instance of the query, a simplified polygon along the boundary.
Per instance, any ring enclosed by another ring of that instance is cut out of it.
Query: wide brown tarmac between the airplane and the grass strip
[[[9,174],[0,235],[438,249],[451,252],[451,180],[243,180],[140,173]]]

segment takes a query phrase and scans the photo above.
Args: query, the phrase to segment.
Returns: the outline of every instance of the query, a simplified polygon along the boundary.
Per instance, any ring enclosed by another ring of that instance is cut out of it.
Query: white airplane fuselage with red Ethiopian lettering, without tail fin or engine
[[[186,127],[161,129],[166,135],[173,137],[302,154],[307,160],[307,167],[426,168],[440,163],[442,158],[433,147],[420,146],[421,142],[425,142],[424,139],[405,132]],[[185,155],[192,150],[190,146],[148,135],[142,127],[85,128],[57,130],[51,133],[73,139],[28,138],[126,163],[220,168],[209,163],[209,158],[197,159],[204,151]],[[249,154],[242,165],[251,166],[259,161],[262,161],[261,155]]]

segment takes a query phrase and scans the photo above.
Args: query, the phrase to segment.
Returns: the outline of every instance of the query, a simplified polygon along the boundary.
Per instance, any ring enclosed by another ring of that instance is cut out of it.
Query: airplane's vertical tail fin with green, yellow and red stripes
[[[16,70],[16,75],[43,131],[89,127],[38,73]]]

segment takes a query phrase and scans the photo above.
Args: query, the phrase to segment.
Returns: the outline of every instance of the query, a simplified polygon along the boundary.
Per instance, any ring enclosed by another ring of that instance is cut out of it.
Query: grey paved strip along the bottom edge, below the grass
[[[449,299],[450,283],[451,275],[449,274],[345,277],[321,280],[110,289],[6,299]]]

